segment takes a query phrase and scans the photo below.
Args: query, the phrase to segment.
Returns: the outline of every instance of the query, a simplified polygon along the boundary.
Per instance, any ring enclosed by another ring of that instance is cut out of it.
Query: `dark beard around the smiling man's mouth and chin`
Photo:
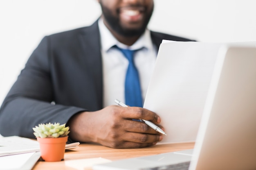
[[[143,24],[141,25],[141,27],[139,27],[139,28],[124,28],[123,26],[121,26],[119,18],[112,15],[110,9],[104,7],[102,4],[101,4],[101,9],[102,9],[102,13],[105,17],[106,22],[112,28],[112,30],[114,30],[119,35],[122,35],[124,37],[133,37],[133,36],[142,35],[144,33],[144,31],[148,25],[148,22],[152,16],[152,13],[153,13],[153,8],[150,11],[150,13],[146,13],[146,18],[143,21]]]

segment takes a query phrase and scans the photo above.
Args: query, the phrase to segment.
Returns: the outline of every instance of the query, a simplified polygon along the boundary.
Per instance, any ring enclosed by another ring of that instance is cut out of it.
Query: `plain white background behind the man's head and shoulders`
[[[155,0],[149,28],[204,42],[256,41],[256,0]],[[45,35],[88,26],[96,0],[0,0],[0,105]]]

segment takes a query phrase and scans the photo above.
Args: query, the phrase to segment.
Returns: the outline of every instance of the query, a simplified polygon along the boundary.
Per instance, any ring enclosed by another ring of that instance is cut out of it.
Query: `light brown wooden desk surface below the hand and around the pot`
[[[114,149],[96,144],[80,144],[75,150],[65,152],[65,160],[85,159],[102,157],[110,160],[125,159],[131,157],[140,157],[146,155],[155,155],[159,153],[173,152],[177,150],[191,149],[194,143],[182,144],[158,144],[147,148],[136,149]],[[65,166],[65,160],[59,162],[38,161],[33,170],[74,170]]]

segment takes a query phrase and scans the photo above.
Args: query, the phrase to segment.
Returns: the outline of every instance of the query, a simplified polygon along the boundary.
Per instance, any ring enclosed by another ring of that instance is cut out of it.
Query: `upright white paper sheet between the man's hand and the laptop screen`
[[[144,108],[162,119],[161,143],[194,142],[220,47],[223,44],[169,41],[157,54]]]

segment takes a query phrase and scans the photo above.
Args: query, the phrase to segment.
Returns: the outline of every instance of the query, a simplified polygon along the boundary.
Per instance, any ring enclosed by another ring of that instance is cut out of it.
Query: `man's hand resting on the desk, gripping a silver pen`
[[[163,139],[144,122],[132,119],[149,120],[154,124],[161,122],[156,113],[147,109],[111,105],[99,111],[74,115],[67,123],[69,136],[80,142],[96,142],[111,148],[141,148]]]

